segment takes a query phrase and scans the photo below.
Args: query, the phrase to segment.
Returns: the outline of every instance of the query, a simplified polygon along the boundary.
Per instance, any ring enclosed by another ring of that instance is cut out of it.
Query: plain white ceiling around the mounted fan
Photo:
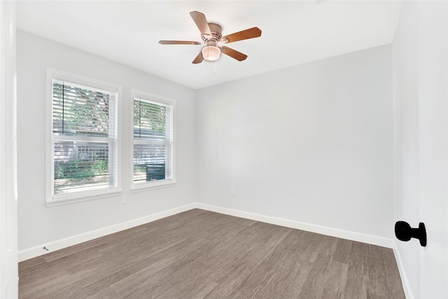
[[[401,1],[18,1],[17,27],[149,74],[199,89],[304,62],[391,43]],[[262,36],[228,43],[248,55],[191,62],[202,41],[190,11],[223,36],[259,27]]]

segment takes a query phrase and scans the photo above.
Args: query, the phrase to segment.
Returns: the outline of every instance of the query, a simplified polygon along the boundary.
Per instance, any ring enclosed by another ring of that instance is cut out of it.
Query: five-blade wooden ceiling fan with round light
[[[219,46],[219,43],[233,43],[234,41],[242,41],[244,39],[253,39],[261,36],[261,30],[258,27],[253,27],[240,32],[235,32],[226,36],[222,36],[222,27],[216,23],[209,23],[203,13],[199,11],[192,11],[191,18],[195,21],[197,28],[201,32],[201,38],[206,45],[201,52],[193,60],[194,64],[201,63],[203,60],[215,61],[221,56],[221,53],[235,58],[238,61],[243,61],[247,55],[233,50],[227,46]],[[200,45],[200,41],[159,41],[162,45]]]

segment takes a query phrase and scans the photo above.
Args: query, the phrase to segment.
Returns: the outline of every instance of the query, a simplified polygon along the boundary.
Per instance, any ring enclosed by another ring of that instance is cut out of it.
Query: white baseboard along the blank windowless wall
[[[328,235],[331,237],[338,237],[342,239],[349,239],[351,241],[363,242],[367,244],[383,246],[387,248],[393,248],[393,240],[386,237],[379,237],[375,235],[367,235],[360,232],[352,232],[350,230],[339,230],[337,228],[329,228],[326,226],[304,223],[299,221],[292,221],[283,218],[276,218],[272,216],[265,216],[260,214],[249,213],[246,211],[239,211],[235,209],[228,209],[223,207],[217,207],[210,204],[202,204],[197,202],[196,207],[198,209],[204,209],[207,211],[215,211],[217,213],[226,214],[230,216],[237,216],[241,218],[247,218],[255,221],[261,221],[265,223],[271,223],[287,228],[297,228],[298,230],[306,230],[308,232],[316,232],[321,235]]]

